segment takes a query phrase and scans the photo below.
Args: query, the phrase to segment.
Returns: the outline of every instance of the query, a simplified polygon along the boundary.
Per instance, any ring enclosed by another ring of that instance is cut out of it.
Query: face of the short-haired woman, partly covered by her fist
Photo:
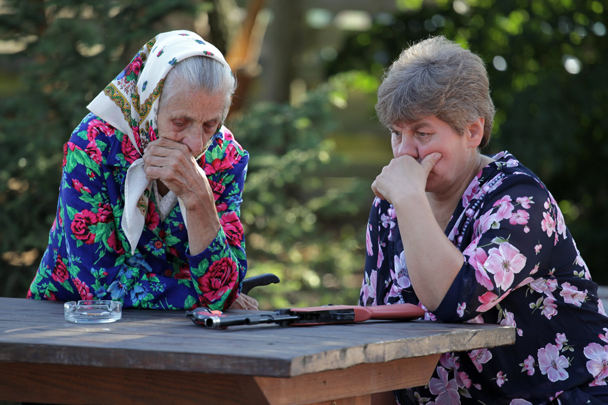
[[[393,156],[410,155],[419,163],[429,154],[440,152],[441,159],[430,171],[427,192],[446,192],[468,179],[470,169],[478,164],[478,140],[469,131],[458,135],[437,117],[424,117],[412,123],[398,123],[391,128]],[[467,180],[468,179],[468,180]]]

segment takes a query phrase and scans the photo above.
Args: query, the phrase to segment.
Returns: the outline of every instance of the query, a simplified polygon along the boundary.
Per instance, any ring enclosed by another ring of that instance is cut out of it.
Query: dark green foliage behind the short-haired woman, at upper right
[[[547,184],[594,279],[608,284],[608,36],[597,0],[398,0],[348,38],[328,75],[358,69],[381,77],[402,49],[445,35],[488,66],[497,107],[486,152],[508,150]]]

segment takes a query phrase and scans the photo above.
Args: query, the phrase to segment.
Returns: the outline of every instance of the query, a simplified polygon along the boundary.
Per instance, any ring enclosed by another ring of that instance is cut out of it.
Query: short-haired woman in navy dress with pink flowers
[[[439,36],[401,53],[376,105],[394,158],[371,188],[361,305],[512,325],[512,346],[448,353],[401,404],[608,403],[608,318],[541,180],[480,154],[494,106],[482,60]]]

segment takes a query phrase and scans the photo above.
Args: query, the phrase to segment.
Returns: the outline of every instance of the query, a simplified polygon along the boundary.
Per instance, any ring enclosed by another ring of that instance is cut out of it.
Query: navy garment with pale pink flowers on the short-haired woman
[[[426,387],[401,390],[397,398],[401,404],[604,403],[598,398],[608,393],[608,318],[597,286],[545,185],[508,152],[493,158],[447,225],[465,264],[426,319],[512,325],[516,342],[447,353]],[[376,199],[360,303],[395,302],[422,307],[395,211]]]

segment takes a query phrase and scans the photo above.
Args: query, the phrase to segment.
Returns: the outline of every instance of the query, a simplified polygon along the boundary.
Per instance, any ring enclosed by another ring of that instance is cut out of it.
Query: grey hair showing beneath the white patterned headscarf
[[[176,92],[184,89],[205,90],[210,94],[224,94],[226,106],[222,120],[226,119],[232,95],[237,89],[237,78],[232,70],[209,56],[190,56],[171,67],[162,86],[159,109],[171,101]]]

